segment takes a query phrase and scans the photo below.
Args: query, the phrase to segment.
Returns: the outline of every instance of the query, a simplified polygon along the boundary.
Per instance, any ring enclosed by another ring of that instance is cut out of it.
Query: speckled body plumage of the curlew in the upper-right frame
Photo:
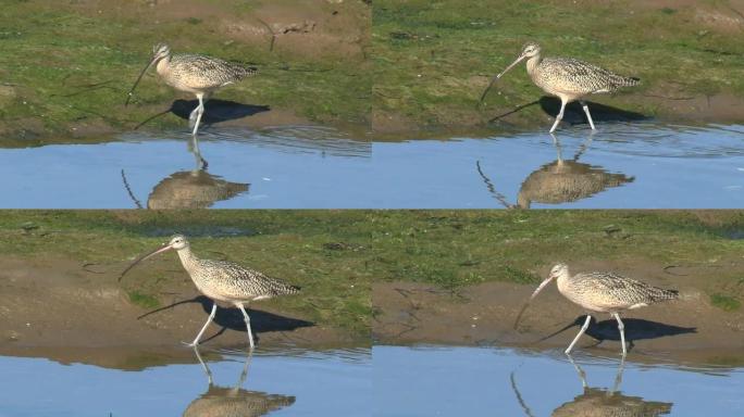
[[[612,92],[620,87],[638,84],[637,78],[624,77],[571,58],[545,58],[530,76],[546,91],[581,96]]]

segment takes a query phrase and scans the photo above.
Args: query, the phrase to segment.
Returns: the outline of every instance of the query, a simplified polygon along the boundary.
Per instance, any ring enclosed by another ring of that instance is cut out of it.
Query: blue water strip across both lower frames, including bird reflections
[[[618,357],[583,352],[574,355],[576,368],[557,351],[387,345],[259,350],[246,366],[245,353],[201,349],[210,387],[196,355],[183,350],[158,365],[152,362],[162,355],[97,357],[107,367],[0,356],[0,416],[203,416],[226,409],[247,416],[572,416],[585,407],[596,415],[744,413],[744,368],[631,356],[619,372]]]

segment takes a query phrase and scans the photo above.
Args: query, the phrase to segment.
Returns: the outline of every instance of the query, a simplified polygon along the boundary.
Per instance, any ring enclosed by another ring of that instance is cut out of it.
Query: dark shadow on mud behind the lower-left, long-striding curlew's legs
[[[151,312],[145,313],[137,319],[145,318],[149,315],[163,312],[165,309],[174,308],[182,304],[198,303],[207,315],[212,311],[213,301],[204,295],[197,295],[189,300],[182,300],[170,305],[153,309]],[[253,337],[259,339],[259,333],[271,332],[271,331],[292,331],[301,327],[312,327],[315,324],[312,321],[302,320],[299,318],[292,318],[280,316],[277,314],[262,312],[259,309],[252,309],[246,307],[248,316],[250,316],[250,328],[253,331]],[[216,314],[212,320],[215,325],[220,326],[221,329],[216,333],[209,338],[202,339],[201,342],[207,342],[212,340],[220,334],[224,333],[225,330],[236,330],[246,332],[246,323],[243,319],[243,313],[237,307],[223,307],[218,305]]]

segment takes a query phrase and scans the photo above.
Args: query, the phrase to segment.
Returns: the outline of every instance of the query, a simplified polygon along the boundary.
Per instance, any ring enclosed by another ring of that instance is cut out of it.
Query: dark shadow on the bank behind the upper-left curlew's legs
[[[135,127],[135,130],[168,113],[173,113],[181,118],[188,119],[191,111],[194,111],[197,105],[199,105],[198,100],[175,100],[168,110],[146,118]],[[201,124],[209,126],[214,123],[252,116],[270,110],[271,108],[269,105],[243,104],[237,101],[211,99],[204,103],[204,113],[201,116]]]

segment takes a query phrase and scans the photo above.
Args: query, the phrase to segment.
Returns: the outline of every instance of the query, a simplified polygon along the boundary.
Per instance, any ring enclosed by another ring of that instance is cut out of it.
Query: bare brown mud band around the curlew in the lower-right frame
[[[576,265],[575,270],[616,270],[667,288],[677,288],[682,300],[661,303],[622,315],[625,336],[633,342],[630,357],[653,357],[694,364],[744,363],[744,314],[724,312],[708,301],[703,290],[717,287],[720,268],[744,266],[672,267],[638,263]],[[547,274],[547,270],[541,270]],[[566,300],[555,283],[543,291],[525,312],[518,330],[513,323],[536,286],[487,282],[452,292],[411,283],[377,283],[373,303],[375,342],[384,344],[499,345],[536,350],[562,350],[583,324],[584,312]],[[578,344],[599,355],[620,352],[617,323],[595,315]],[[596,346],[594,346],[596,345]],[[592,346],[592,348],[590,348]]]

